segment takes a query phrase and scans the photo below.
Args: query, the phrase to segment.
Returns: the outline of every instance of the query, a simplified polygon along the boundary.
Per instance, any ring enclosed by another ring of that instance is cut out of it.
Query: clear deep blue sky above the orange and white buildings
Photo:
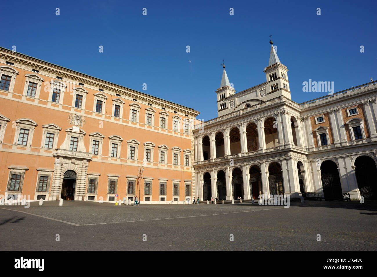
[[[0,46],[191,107],[208,120],[217,117],[222,60],[237,92],[265,82],[270,35],[298,103],[326,95],[303,92],[309,79],[334,81],[335,92],[377,80],[376,8],[371,0],[7,1]]]

